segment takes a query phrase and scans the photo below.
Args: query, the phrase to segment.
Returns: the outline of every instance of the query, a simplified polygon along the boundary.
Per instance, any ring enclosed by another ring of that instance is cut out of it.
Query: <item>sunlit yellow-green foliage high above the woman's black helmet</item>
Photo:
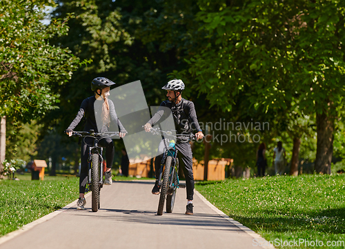
[[[55,10],[59,17],[68,17],[68,12],[75,14],[75,19],[71,21],[72,32],[61,39],[63,45],[68,43],[78,57],[93,61],[83,71],[100,74],[116,70],[119,57],[112,51],[127,50],[134,39],[121,23],[119,8],[114,3],[97,0],[61,3],[60,8]]]

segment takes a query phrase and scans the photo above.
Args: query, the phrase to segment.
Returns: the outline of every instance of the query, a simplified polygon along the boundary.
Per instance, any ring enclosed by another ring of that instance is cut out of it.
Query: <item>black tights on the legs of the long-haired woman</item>
[[[86,137],[81,142],[81,169],[80,169],[80,178],[79,178],[79,193],[85,193],[86,183],[88,182],[88,152],[89,146],[93,145],[94,139],[91,137]],[[86,144],[87,143],[87,144]],[[112,139],[104,138],[99,140],[99,146],[106,148],[106,163],[107,168],[112,167],[112,161],[114,161],[115,148]],[[103,154],[104,155],[104,154]]]

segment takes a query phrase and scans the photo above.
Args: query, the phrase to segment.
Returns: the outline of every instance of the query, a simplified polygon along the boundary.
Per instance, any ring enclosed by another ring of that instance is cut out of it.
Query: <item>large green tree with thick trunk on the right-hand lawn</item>
[[[329,173],[334,118],[345,91],[345,3],[198,3],[208,46],[199,47],[182,73],[193,74],[197,90],[224,111],[232,110],[235,95],[250,88],[248,101],[256,108],[316,113],[315,170]]]

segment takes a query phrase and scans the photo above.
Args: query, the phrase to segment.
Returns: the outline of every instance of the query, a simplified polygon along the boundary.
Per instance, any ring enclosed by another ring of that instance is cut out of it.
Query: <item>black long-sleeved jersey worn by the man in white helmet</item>
[[[193,132],[192,128],[195,128],[197,132],[201,131],[199,122],[197,121],[197,113],[195,112],[194,103],[183,98],[177,104],[168,100],[161,102],[161,106],[158,111],[152,119],[148,121],[151,126],[157,123],[161,117],[166,117],[167,113],[165,113],[164,108],[161,107],[169,108],[171,110],[177,134],[190,135]],[[180,140],[180,142],[186,141],[188,141],[188,139]]]

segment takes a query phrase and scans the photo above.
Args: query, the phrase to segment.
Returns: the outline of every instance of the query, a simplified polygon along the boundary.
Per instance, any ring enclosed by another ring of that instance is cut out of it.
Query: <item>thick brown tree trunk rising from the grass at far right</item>
[[[317,148],[315,171],[320,174],[331,174],[333,156],[334,121],[328,113],[316,114]]]

